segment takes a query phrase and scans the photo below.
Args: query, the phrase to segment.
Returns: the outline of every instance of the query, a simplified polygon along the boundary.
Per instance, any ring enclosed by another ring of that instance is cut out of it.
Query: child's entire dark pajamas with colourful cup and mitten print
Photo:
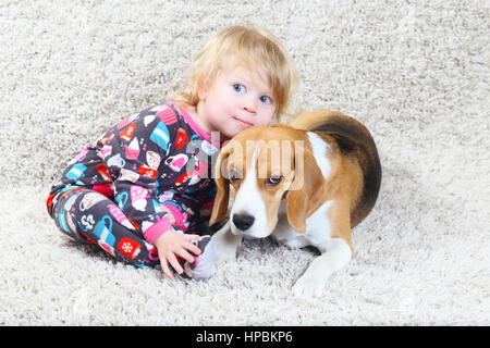
[[[162,233],[206,234],[219,147],[174,102],[144,110],[71,161],[51,188],[48,212],[75,240],[158,266],[152,243]]]

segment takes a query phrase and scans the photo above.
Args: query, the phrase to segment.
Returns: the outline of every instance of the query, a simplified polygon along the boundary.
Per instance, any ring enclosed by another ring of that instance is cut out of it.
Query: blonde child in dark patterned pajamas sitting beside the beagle
[[[70,162],[49,214],[63,234],[118,260],[192,277],[209,241],[200,236],[216,195],[212,159],[224,140],[279,117],[296,76],[271,33],[221,30],[172,100],[122,120]]]

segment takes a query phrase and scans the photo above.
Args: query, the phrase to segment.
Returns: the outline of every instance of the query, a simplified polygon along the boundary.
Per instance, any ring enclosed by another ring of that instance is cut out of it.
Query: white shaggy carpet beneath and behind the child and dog
[[[378,145],[378,203],[321,299],[291,294],[308,250],[250,241],[207,283],[170,281],[45,209],[69,159],[243,22],[290,50],[295,110],[356,116]],[[489,325],[489,23],[467,0],[2,0],[0,325]]]

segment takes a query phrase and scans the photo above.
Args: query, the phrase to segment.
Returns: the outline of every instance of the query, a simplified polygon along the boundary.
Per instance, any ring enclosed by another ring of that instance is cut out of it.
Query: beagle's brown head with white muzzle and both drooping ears
[[[232,185],[233,234],[269,236],[282,198],[287,200],[290,225],[304,233],[306,217],[321,203],[324,179],[311,151],[306,132],[290,126],[256,126],[241,132],[223,147],[217,161],[218,192],[210,224],[226,217]]]

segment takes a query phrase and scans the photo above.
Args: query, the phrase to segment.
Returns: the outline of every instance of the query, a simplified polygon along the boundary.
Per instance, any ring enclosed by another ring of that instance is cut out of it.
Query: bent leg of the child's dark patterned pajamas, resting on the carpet
[[[72,239],[95,244],[117,260],[138,268],[160,269],[157,248],[147,243],[110,198],[87,188],[61,191],[51,217]]]

